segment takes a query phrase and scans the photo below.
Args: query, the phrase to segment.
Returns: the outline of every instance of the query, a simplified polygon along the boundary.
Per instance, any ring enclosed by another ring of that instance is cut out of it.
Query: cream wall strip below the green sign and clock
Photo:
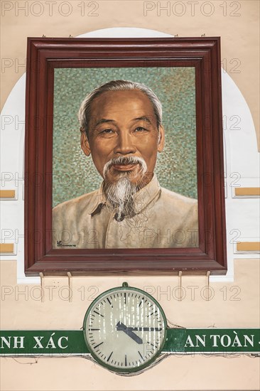
[[[259,390],[259,360],[247,355],[172,356],[134,377],[102,368],[97,375],[96,365],[83,358],[1,358],[0,364],[3,373],[9,374],[3,391]],[[50,368],[55,371],[50,373]]]

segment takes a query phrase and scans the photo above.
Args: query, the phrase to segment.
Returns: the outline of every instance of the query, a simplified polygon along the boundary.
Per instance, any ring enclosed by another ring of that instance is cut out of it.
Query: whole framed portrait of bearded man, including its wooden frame
[[[28,38],[25,272],[227,272],[220,38]]]

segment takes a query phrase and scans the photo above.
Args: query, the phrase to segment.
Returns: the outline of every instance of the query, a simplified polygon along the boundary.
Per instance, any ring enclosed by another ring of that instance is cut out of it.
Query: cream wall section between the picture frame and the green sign
[[[210,301],[205,277],[183,277],[182,301],[178,300],[178,277],[75,277],[70,303],[67,278],[45,278],[41,302],[40,285],[16,285],[16,262],[1,262],[1,328],[78,330],[94,297],[124,281],[153,294],[169,326],[254,328],[259,326],[259,264],[258,259],[237,259],[234,282],[210,284]]]

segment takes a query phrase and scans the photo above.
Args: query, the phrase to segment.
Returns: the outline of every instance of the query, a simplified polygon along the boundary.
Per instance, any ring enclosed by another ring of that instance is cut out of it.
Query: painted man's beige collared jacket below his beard
[[[53,248],[197,247],[197,200],[156,179],[135,195],[134,218],[118,222],[101,188],[53,208]]]

